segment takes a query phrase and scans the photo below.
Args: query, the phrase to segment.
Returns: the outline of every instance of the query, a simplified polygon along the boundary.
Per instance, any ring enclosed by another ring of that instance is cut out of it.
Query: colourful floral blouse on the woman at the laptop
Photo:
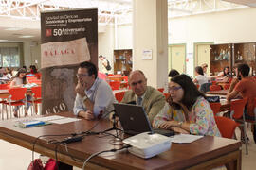
[[[159,127],[165,121],[185,122],[185,115],[182,109],[175,110],[168,103],[155,116],[153,126]],[[189,114],[190,133],[196,135],[221,136],[215,123],[214,115],[208,101],[204,97],[198,97],[192,106],[192,113]]]

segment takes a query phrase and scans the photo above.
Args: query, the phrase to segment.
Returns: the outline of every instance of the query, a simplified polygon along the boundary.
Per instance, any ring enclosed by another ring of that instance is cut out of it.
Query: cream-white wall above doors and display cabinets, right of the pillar
[[[169,19],[169,44],[187,43],[187,54],[194,54],[195,42],[256,42],[256,8]],[[193,59],[187,73],[193,75]]]

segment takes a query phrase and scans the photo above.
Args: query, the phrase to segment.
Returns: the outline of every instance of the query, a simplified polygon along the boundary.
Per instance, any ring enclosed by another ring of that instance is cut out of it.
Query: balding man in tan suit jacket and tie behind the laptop
[[[126,91],[121,103],[136,103],[143,106],[150,123],[155,115],[164,107],[165,96],[155,88],[147,86],[147,78],[140,70],[135,70],[128,76],[130,91]]]

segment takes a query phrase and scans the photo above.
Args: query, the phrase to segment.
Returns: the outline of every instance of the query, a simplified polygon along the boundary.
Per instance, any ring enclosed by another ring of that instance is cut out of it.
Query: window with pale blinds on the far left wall
[[[18,47],[0,47],[0,67],[20,67]]]

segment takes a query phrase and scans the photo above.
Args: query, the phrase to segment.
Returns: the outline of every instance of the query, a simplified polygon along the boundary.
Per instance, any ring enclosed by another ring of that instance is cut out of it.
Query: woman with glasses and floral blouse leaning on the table
[[[179,133],[221,136],[210,104],[189,76],[174,76],[169,83],[169,93],[169,103],[155,116],[154,127]]]

